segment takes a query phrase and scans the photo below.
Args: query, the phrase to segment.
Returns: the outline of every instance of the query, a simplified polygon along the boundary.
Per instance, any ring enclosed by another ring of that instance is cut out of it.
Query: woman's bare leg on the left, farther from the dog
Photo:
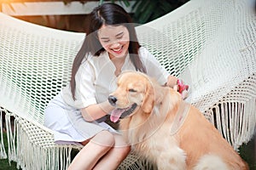
[[[102,156],[104,156],[114,145],[113,133],[102,131],[97,133],[90,142],[79,151],[74,157],[68,170],[90,170],[96,166]],[[106,169],[106,167],[105,167]]]

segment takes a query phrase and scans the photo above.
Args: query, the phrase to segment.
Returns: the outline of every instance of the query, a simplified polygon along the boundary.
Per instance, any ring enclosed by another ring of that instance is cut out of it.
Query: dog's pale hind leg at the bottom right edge
[[[224,161],[214,155],[202,156],[194,170],[229,170]]]

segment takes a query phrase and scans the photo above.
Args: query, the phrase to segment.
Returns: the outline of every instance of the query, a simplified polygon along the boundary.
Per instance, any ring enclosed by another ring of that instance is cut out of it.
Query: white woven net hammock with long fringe
[[[190,85],[199,108],[237,150],[256,122],[256,17],[246,0],[191,0],[143,26],[139,41]],[[22,169],[66,169],[76,145],[57,145],[44,108],[70,78],[83,33],[59,31],[0,13],[0,157],[6,113],[9,161]],[[10,116],[15,116],[11,131]],[[151,167],[131,153],[119,169]],[[129,167],[129,165],[131,167]]]

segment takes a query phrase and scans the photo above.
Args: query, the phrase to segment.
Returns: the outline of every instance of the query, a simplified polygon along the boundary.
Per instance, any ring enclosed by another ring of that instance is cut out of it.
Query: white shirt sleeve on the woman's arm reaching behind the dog
[[[149,53],[148,49],[141,47],[139,53],[143,59],[143,64],[146,67],[148,76],[154,77],[161,85],[164,85],[170,74],[160,65],[160,62],[154,58],[154,55]]]

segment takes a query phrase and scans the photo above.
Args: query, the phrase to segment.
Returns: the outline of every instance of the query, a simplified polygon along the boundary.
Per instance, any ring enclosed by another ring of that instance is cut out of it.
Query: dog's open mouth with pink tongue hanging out
[[[111,112],[110,120],[112,122],[118,122],[119,119],[124,118],[125,116],[131,115],[131,113],[133,111],[135,111],[136,108],[137,108],[136,103],[132,104],[131,106],[129,106],[127,108],[123,108],[123,109],[116,108]]]

